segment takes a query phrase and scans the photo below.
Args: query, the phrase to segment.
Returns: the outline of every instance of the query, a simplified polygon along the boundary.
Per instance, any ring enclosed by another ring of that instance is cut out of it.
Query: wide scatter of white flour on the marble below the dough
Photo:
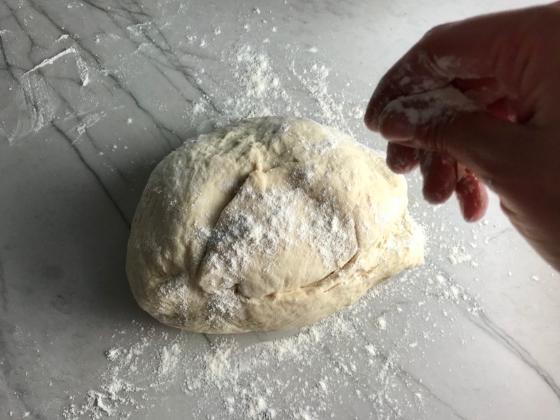
[[[209,336],[200,349],[188,332],[133,322],[113,336],[99,386],[73,395],[64,419],[155,418],[168,398],[216,420],[347,418],[349,401],[372,419],[461,418],[416,370],[424,351],[457,335],[458,318],[479,323],[479,311],[477,297],[428,263],[296,332]]]

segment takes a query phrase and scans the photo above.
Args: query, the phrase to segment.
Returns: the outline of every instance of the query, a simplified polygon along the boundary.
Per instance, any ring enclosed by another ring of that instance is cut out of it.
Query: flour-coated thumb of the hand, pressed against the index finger
[[[495,187],[519,173],[533,133],[466,104],[400,97],[381,112],[379,132],[403,146],[450,155]]]

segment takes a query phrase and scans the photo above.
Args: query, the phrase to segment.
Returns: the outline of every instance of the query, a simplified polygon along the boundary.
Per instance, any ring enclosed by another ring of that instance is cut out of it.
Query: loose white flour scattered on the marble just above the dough
[[[271,26],[274,16],[256,22],[254,18],[249,14],[239,25],[262,37],[262,43],[246,41],[244,36],[225,41],[219,28],[209,36],[189,37],[190,43],[201,50],[211,50],[214,43],[230,43],[219,60],[228,64],[228,76],[235,80],[227,85],[213,83],[209,71],[198,70],[196,82],[203,94],[193,102],[192,109],[188,108],[186,117],[191,124],[204,125],[209,119],[223,127],[243,118],[293,115],[312,118],[350,135],[361,127],[365,102],[357,102],[344,89],[329,88],[331,69],[324,52],[316,46],[302,48],[298,43],[279,45],[281,34]],[[346,88],[350,85],[351,80],[345,83]]]

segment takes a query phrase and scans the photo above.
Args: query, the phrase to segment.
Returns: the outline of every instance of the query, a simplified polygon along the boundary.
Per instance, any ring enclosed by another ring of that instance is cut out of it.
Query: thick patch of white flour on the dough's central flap
[[[209,239],[209,253],[203,263],[204,272],[220,276],[221,284],[214,287],[227,289],[241,283],[243,288],[247,269],[255,269],[249,266],[255,252],[267,259],[268,269],[274,269],[282,250],[300,249],[304,244],[305,251],[307,244],[311,244],[324,267],[332,270],[356,253],[353,223],[340,218],[335,204],[314,200],[302,188],[267,188],[265,192],[244,188],[235,200],[252,203],[265,217],[255,218],[256,210],[249,208],[228,214],[218,224]]]

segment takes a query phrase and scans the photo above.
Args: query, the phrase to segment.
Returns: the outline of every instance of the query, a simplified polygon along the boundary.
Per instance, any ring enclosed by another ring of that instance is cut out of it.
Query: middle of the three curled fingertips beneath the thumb
[[[419,160],[426,201],[433,204],[447,201],[457,186],[457,162],[432,151],[419,151]]]

